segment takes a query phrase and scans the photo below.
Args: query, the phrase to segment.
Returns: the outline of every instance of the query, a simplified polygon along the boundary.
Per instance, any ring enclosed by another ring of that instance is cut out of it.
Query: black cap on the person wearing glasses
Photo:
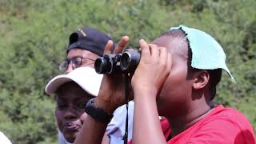
[[[74,33],[70,34],[70,43],[67,46],[66,52],[68,53],[69,50],[78,48],[82,50],[89,50],[94,54],[102,56],[106,42],[109,40],[112,39],[106,34],[84,26],[82,29],[78,29]]]

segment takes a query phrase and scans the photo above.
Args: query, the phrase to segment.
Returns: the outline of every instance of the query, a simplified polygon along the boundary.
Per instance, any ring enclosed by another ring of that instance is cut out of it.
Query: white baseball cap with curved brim
[[[76,82],[88,94],[96,97],[102,83],[102,77],[102,74],[97,74],[91,67],[79,67],[68,74],[61,74],[52,78],[46,85],[46,94],[56,93],[56,90],[66,82]]]

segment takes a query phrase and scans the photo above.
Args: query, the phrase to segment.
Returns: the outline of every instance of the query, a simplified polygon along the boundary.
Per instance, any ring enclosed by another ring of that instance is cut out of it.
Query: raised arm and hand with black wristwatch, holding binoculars
[[[129,38],[123,37],[118,46],[115,48],[114,53],[121,53],[122,49],[128,43]],[[113,42],[109,41],[106,44],[104,54],[110,54]],[[106,74],[102,78],[102,85],[99,90],[98,96],[95,98],[94,106],[101,108],[106,113],[113,114],[118,106],[124,104],[124,86],[122,74]],[[83,123],[82,130],[79,132],[75,139],[75,144],[100,144],[102,143],[103,136],[106,131],[106,122],[99,122],[88,115],[86,122]]]

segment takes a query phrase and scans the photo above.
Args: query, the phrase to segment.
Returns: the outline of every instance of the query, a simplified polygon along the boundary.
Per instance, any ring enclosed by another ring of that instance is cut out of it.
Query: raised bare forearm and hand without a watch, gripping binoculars
[[[166,143],[156,98],[170,74],[171,57],[165,47],[140,40],[142,58],[132,78],[134,90],[134,144]]]

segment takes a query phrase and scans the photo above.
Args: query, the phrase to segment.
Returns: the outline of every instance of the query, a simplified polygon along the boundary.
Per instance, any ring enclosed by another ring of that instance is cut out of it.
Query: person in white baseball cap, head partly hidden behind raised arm
[[[55,118],[67,142],[73,143],[86,120],[86,102],[98,95],[102,75],[93,68],[80,67],[69,74],[54,77],[46,85],[47,94],[55,94]]]

